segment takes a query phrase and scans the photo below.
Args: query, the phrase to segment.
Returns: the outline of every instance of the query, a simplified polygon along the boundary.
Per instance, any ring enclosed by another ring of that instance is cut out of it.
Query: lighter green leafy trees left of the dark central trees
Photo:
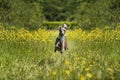
[[[8,27],[16,25],[35,29],[43,20],[41,3],[27,0],[1,0],[0,22]]]

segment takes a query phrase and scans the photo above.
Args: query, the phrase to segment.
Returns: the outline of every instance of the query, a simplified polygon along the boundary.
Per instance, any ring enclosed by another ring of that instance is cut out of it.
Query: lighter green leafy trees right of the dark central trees
[[[105,25],[114,28],[120,22],[120,1],[79,0],[76,16],[79,25],[85,29],[104,27]]]

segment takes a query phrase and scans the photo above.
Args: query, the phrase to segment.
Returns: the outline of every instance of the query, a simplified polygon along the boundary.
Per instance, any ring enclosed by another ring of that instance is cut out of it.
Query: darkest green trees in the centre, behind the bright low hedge
[[[43,13],[48,21],[73,21],[76,0],[44,0]]]

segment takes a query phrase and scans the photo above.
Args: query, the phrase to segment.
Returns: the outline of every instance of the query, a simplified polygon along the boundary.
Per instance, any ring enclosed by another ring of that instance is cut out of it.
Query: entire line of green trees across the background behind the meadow
[[[120,22],[120,0],[0,0],[0,23],[40,28],[44,21],[76,21],[84,29]]]

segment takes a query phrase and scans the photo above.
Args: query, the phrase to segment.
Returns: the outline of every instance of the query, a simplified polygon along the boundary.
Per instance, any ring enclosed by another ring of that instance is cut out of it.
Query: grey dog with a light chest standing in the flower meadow
[[[59,27],[59,35],[55,41],[55,52],[58,50],[61,53],[63,53],[64,50],[68,49],[67,48],[67,39],[66,39],[65,33],[66,33],[66,28],[60,26]]]

